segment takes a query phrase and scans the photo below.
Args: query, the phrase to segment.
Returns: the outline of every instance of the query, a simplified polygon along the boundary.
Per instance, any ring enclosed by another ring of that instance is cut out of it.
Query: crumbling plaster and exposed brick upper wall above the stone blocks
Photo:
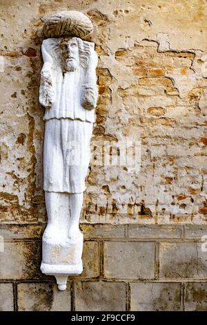
[[[139,173],[90,167],[82,221],[206,223],[203,0],[0,1],[1,220],[46,221],[41,27],[45,15],[61,9],[87,12],[95,24],[94,140],[141,141]]]

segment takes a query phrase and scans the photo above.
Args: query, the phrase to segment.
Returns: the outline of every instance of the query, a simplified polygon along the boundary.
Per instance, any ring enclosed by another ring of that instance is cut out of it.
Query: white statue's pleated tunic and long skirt
[[[50,39],[44,42],[49,43]],[[42,52],[50,54],[50,46],[44,42]],[[43,188],[48,192],[81,193],[85,189],[95,109],[83,107],[83,91],[87,85],[93,86],[97,96],[97,57],[93,47],[90,48],[90,56],[93,56],[88,58],[90,66],[79,65],[76,71],[63,73],[60,64],[52,68],[54,62],[51,63],[51,54],[49,64],[46,63],[48,56],[43,55],[55,98],[52,106],[46,108],[43,118],[46,121]],[[54,60],[54,53],[52,59]]]

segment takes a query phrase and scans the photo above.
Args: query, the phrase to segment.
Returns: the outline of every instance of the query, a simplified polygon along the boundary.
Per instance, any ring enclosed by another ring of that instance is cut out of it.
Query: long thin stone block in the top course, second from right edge
[[[128,225],[128,236],[138,239],[180,238],[177,225]]]

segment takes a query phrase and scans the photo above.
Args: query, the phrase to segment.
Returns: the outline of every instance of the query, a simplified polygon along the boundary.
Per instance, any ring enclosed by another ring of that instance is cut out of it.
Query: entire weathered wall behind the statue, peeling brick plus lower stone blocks
[[[207,310],[205,1],[0,0],[0,9],[0,310]],[[95,24],[93,141],[141,142],[140,170],[91,163],[84,271],[63,293],[39,271],[41,27],[59,9]]]

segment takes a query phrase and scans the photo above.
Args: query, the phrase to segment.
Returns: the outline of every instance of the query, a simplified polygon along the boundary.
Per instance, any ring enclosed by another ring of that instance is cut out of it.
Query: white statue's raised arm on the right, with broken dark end
[[[83,107],[84,109],[95,109],[97,106],[98,89],[97,89],[97,54],[93,51],[90,57],[90,64],[86,73],[86,82],[83,85]]]

